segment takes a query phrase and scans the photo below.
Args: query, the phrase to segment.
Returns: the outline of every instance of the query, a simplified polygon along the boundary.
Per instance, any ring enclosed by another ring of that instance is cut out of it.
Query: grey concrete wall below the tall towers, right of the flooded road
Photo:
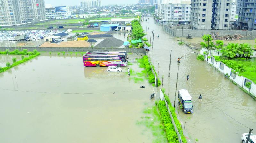
[[[172,29],[168,26],[164,26],[164,30],[174,37],[181,37],[182,35],[182,29]],[[253,31],[247,31],[247,30],[192,30],[192,29],[183,29],[183,36],[186,37],[188,33],[191,34],[193,37],[202,37],[205,34],[211,34],[212,32],[215,32],[218,34],[218,36],[225,36],[225,35],[234,35],[234,34],[240,34],[242,36],[256,36],[256,30]]]

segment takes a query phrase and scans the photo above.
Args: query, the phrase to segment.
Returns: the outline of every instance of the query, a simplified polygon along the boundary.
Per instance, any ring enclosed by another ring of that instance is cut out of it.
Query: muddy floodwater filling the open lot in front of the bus
[[[130,80],[128,67],[141,70],[133,64],[108,73],[84,67],[81,56],[42,53],[0,73],[0,142],[152,142],[136,121],[154,104],[154,88]]]

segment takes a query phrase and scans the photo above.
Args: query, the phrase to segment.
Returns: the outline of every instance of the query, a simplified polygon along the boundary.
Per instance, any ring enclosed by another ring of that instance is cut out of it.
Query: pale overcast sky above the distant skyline
[[[79,5],[80,0],[44,0],[45,4],[52,6]],[[101,0],[102,5],[113,4],[135,4],[139,0]]]

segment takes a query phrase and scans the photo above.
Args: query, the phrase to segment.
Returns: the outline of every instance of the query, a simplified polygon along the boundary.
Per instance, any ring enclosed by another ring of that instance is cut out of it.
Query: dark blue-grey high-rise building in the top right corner
[[[256,29],[256,1],[240,0],[240,3],[238,26],[250,31]]]

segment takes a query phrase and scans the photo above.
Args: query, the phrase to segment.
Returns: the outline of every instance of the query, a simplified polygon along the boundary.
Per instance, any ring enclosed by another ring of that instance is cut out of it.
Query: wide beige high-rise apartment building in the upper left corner
[[[44,0],[0,0],[0,25],[45,19]]]

